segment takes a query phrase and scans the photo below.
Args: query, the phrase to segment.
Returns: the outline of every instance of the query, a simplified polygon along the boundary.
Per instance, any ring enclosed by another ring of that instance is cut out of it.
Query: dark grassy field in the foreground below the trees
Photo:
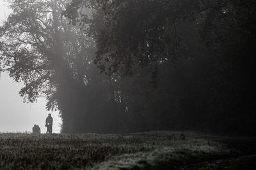
[[[0,134],[0,169],[255,169],[255,151],[196,132]]]

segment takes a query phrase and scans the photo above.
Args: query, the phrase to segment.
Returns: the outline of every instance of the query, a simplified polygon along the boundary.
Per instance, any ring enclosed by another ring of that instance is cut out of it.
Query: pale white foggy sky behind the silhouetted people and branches
[[[6,3],[0,0],[0,25],[10,13]],[[41,132],[46,132],[45,118],[52,114],[52,132],[60,132],[61,118],[58,111],[45,110],[45,99],[38,99],[37,103],[23,103],[19,90],[23,83],[15,82],[8,73],[1,73],[0,77],[0,132],[31,132],[34,124],[39,125]]]

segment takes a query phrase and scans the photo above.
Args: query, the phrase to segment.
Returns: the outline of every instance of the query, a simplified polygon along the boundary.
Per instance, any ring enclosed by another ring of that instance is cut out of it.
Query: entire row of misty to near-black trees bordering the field
[[[0,68],[62,132],[255,134],[252,0],[14,0]]]

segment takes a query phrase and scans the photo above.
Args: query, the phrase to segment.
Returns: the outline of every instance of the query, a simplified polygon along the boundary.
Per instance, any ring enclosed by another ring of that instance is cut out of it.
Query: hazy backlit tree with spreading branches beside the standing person
[[[62,0],[13,1],[13,12],[0,30],[0,62],[1,71],[24,82],[20,95],[25,101],[47,97],[47,109],[60,110],[63,131],[72,132],[77,115],[86,115],[88,85],[99,74],[92,73],[95,43],[62,17],[66,4]]]

